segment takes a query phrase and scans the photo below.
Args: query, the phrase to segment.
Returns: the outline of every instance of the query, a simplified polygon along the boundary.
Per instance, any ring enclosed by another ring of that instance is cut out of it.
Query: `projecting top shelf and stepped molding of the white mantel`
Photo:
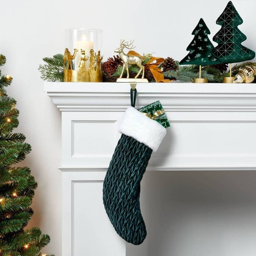
[[[136,88],[137,107],[159,99],[166,111],[256,111],[256,84],[138,83]],[[124,111],[129,90],[129,83],[44,83],[61,111]]]

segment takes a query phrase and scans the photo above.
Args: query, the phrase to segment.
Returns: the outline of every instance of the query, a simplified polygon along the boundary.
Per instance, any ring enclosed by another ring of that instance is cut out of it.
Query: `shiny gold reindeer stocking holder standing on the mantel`
[[[133,42],[134,42],[134,40],[130,41],[130,43],[128,43],[128,41],[125,42],[124,39],[123,40],[121,39],[120,47],[117,48],[116,50],[114,50],[114,52],[119,53],[120,58],[124,63],[120,78],[117,79],[117,82],[124,82],[125,79],[121,79],[123,74],[124,74],[124,68],[126,68],[126,71],[127,71],[127,78],[126,79],[129,78],[128,65],[134,65],[134,64],[136,64],[140,68],[140,71],[135,76],[135,79],[138,78],[138,76],[142,72],[142,79],[137,79],[136,82],[148,82],[147,79],[144,79],[144,66],[142,65],[142,62],[143,62],[142,56],[128,55],[128,54],[125,54],[124,51],[123,51],[124,48],[126,48],[126,49],[135,48],[135,46],[132,45]],[[135,80],[135,79],[129,79],[129,81],[131,80],[131,82],[133,82],[132,80]]]

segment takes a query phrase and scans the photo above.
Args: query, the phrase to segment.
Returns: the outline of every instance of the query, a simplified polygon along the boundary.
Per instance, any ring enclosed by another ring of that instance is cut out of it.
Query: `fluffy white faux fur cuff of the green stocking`
[[[144,143],[153,152],[157,151],[166,135],[166,129],[161,124],[133,107],[125,111],[118,131]]]

